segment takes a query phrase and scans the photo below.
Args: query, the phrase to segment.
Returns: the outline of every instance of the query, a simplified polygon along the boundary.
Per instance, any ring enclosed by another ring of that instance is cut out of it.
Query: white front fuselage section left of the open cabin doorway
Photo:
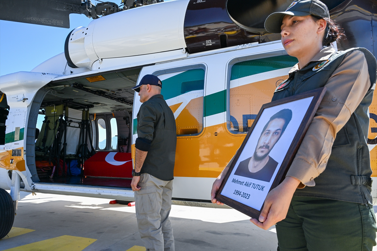
[[[34,159],[35,124],[40,103],[48,93],[41,88],[57,76],[18,71],[0,77],[0,90],[6,94],[9,105],[5,145],[0,148],[0,166],[17,171],[26,190],[31,190],[27,184],[32,184],[33,177],[38,179]],[[42,91],[37,94],[38,90]]]

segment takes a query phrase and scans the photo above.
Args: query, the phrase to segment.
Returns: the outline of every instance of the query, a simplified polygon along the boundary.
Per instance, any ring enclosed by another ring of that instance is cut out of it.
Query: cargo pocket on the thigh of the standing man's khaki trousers
[[[136,207],[139,214],[152,214],[158,209],[156,196],[157,189],[155,186],[141,187],[135,191]]]

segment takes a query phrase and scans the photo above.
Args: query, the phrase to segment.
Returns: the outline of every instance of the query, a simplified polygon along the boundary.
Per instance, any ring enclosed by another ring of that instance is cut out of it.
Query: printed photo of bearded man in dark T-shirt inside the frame
[[[262,130],[253,156],[239,163],[235,175],[270,182],[277,162],[269,156],[292,119],[292,111],[283,109],[271,116]]]

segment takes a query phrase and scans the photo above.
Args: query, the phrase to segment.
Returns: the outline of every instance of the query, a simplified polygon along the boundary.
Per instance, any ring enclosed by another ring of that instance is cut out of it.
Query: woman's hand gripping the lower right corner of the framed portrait
[[[257,219],[250,219],[257,227],[267,230],[276,222],[285,219],[288,213],[289,205],[293,197],[294,191],[299,186],[300,181],[291,176],[285,177],[279,186],[272,189],[264,202],[264,207]]]

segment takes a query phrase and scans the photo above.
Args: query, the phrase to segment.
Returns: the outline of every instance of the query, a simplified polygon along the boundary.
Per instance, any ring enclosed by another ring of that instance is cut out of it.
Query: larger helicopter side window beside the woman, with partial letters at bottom
[[[236,60],[228,81],[227,128],[233,134],[246,134],[261,106],[271,102],[274,90],[288,78],[297,59],[280,55]]]

